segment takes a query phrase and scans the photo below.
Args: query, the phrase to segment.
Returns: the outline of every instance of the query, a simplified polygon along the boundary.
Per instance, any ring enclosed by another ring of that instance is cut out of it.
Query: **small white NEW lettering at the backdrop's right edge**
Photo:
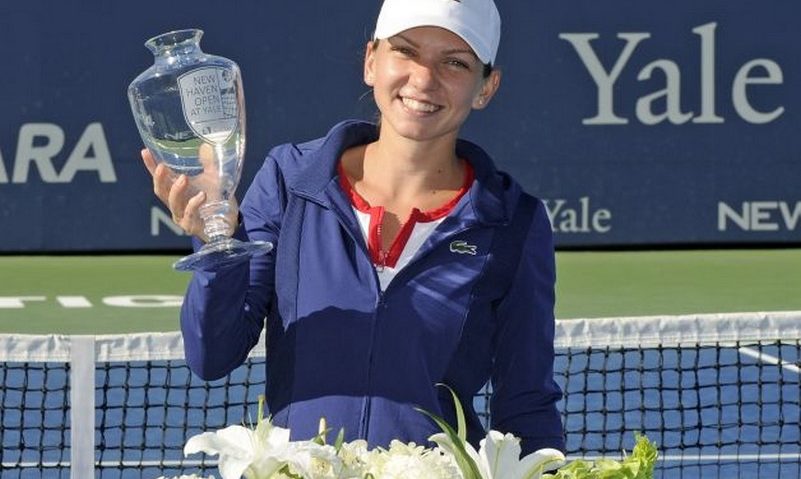
[[[736,226],[743,231],[795,231],[801,224],[801,201],[744,201],[739,209],[718,202],[718,231]]]

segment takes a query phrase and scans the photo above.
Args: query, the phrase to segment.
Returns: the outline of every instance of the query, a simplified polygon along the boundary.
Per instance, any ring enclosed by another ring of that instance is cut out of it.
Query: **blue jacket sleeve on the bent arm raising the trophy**
[[[286,193],[280,170],[268,156],[245,194],[234,237],[273,243],[250,262],[195,272],[181,308],[181,332],[189,368],[217,379],[240,366],[264,328],[275,289],[275,250]],[[200,242],[195,240],[195,246]]]

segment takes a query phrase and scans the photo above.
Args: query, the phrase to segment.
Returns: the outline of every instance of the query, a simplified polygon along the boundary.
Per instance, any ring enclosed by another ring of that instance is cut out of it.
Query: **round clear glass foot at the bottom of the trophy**
[[[216,269],[244,263],[253,256],[267,254],[273,244],[267,241],[244,242],[226,238],[215,243],[208,243],[197,252],[184,256],[172,267],[177,271],[201,271]]]

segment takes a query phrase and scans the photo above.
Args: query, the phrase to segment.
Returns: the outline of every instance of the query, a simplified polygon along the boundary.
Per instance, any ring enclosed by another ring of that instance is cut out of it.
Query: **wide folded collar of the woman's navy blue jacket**
[[[300,145],[309,161],[290,189],[323,206],[347,201],[339,187],[337,164],[342,153],[350,147],[363,145],[378,139],[378,129],[374,123],[346,120],[335,125],[328,134],[315,142]],[[458,140],[456,154],[465,158],[473,166],[475,180],[470,191],[462,201],[472,210],[476,220],[485,224],[506,224],[509,221],[511,205],[520,194],[520,187],[505,173],[498,171],[492,159],[478,145],[466,140]]]

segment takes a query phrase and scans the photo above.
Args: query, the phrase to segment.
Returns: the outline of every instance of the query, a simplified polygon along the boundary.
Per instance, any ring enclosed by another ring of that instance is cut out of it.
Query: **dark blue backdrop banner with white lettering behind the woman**
[[[201,28],[239,63],[241,195],[270,147],[375,116],[361,64],[379,6],[3,2],[0,252],[188,247],[126,98],[148,38]],[[801,242],[801,2],[498,6],[501,88],[463,136],[546,201],[557,245]]]

